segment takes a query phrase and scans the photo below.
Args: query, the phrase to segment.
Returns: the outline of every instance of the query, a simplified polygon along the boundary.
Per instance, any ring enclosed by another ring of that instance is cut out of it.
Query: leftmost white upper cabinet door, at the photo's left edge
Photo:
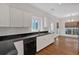
[[[0,4],[0,27],[9,27],[10,15],[9,6]]]

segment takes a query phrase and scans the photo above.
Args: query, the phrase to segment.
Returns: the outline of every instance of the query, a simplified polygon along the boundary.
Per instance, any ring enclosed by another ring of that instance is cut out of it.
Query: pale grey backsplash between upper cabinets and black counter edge
[[[31,32],[31,29],[29,27],[0,27],[0,36],[3,35],[11,35],[11,34],[20,34],[20,33],[28,33]]]

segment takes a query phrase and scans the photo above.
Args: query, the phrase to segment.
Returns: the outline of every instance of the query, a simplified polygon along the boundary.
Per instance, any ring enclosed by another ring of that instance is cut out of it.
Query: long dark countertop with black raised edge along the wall
[[[38,37],[49,34],[48,31],[41,31],[41,32],[33,32],[33,33],[23,33],[23,34],[15,34],[15,35],[8,35],[8,36],[0,36],[0,41],[4,40],[12,40],[12,41],[20,41],[32,37]]]

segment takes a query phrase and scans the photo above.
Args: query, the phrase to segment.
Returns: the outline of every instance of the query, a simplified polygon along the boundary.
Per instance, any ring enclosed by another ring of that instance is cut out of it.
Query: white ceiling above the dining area
[[[79,14],[79,3],[31,3],[31,5],[57,17]]]

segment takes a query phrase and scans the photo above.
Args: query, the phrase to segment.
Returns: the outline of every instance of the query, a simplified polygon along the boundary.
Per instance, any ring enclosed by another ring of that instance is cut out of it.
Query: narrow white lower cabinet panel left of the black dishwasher
[[[18,55],[24,55],[23,40],[14,42],[14,45],[18,51]]]

